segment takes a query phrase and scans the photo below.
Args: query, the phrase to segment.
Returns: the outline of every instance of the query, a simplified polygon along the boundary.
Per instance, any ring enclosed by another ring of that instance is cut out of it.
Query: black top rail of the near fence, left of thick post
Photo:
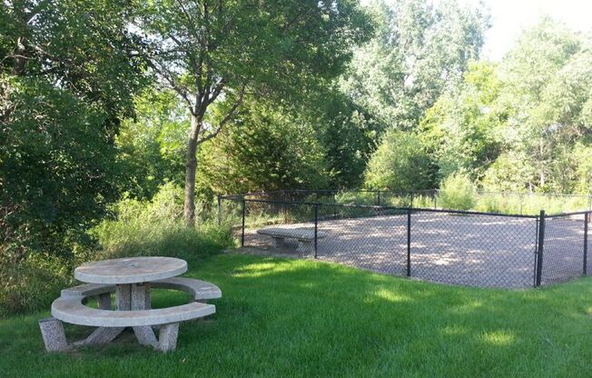
[[[429,209],[421,207],[396,207],[396,206],[379,206],[372,204],[331,204],[331,203],[315,203],[315,202],[297,202],[297,201],[273,201],[273,200],[258,200],[242,198],[242,196],[226,197],[225,199],[244,201],[245,203],[257,203],[257,204],[288,204],[288,205],[308,205],[308,206],[326,206],[326,207],[346,207],[346,208],[362,208],[372,210],[395,210],[401,212],[411,213],[445,213],[445,214],[466,214],[466,215],[488,215],[488,216],[505,216],[510,218],[527,218],[527,219],[538,219],[539,215],[527,215],[527,214],[499,214],[499,213],[485,213],[465,210],[449,210],[449,209]]]

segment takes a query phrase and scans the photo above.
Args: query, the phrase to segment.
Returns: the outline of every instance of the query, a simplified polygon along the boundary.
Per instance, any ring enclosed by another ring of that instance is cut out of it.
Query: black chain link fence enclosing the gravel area
[[[524,288],[592,271],[589,210],[494,214],[439,209],[434,191],[413,198],[380,192],[380,199],[376,191],[357,192],[355,200],[362,204],[341,203],[345,195],[279,191],[221,196],[219,220],[232,224],[242,246],[444,284]],[[376,204],[392,203],[395,197],[402,205]]]

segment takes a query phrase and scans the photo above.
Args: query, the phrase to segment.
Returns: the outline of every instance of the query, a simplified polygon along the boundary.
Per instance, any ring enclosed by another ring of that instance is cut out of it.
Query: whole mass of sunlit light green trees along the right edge
[[[591,51],[589,37],[546,18],[499,65],[471,65],[421,122],[440,176],[466,171],[488,190],[588,193]]]

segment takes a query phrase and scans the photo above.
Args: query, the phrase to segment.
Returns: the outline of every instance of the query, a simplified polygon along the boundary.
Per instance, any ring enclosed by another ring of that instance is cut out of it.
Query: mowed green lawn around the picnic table
[[[37,319],[48,313],[35,313],[0,321],[0,376],[592,376],[590,278],[503,291],[244,254],[188,263],[186,275],[218,284],[223,298],[215,315],[183,323],[176,352],[127,333],[44,353]],[[155,307],[186,300],[154,297]]]

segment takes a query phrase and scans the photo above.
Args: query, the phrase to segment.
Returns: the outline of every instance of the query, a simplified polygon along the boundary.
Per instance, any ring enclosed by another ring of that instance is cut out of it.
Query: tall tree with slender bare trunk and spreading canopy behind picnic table
[[[352,46],[366,40],[370,18],[357,0],[138,1],[130,30],[160,83],[191,114],[184,221],[194,224],[197,148],[232,120],[246,94],[305,97],[339,75]],[[208,122],[214,102],[222,112]]]

